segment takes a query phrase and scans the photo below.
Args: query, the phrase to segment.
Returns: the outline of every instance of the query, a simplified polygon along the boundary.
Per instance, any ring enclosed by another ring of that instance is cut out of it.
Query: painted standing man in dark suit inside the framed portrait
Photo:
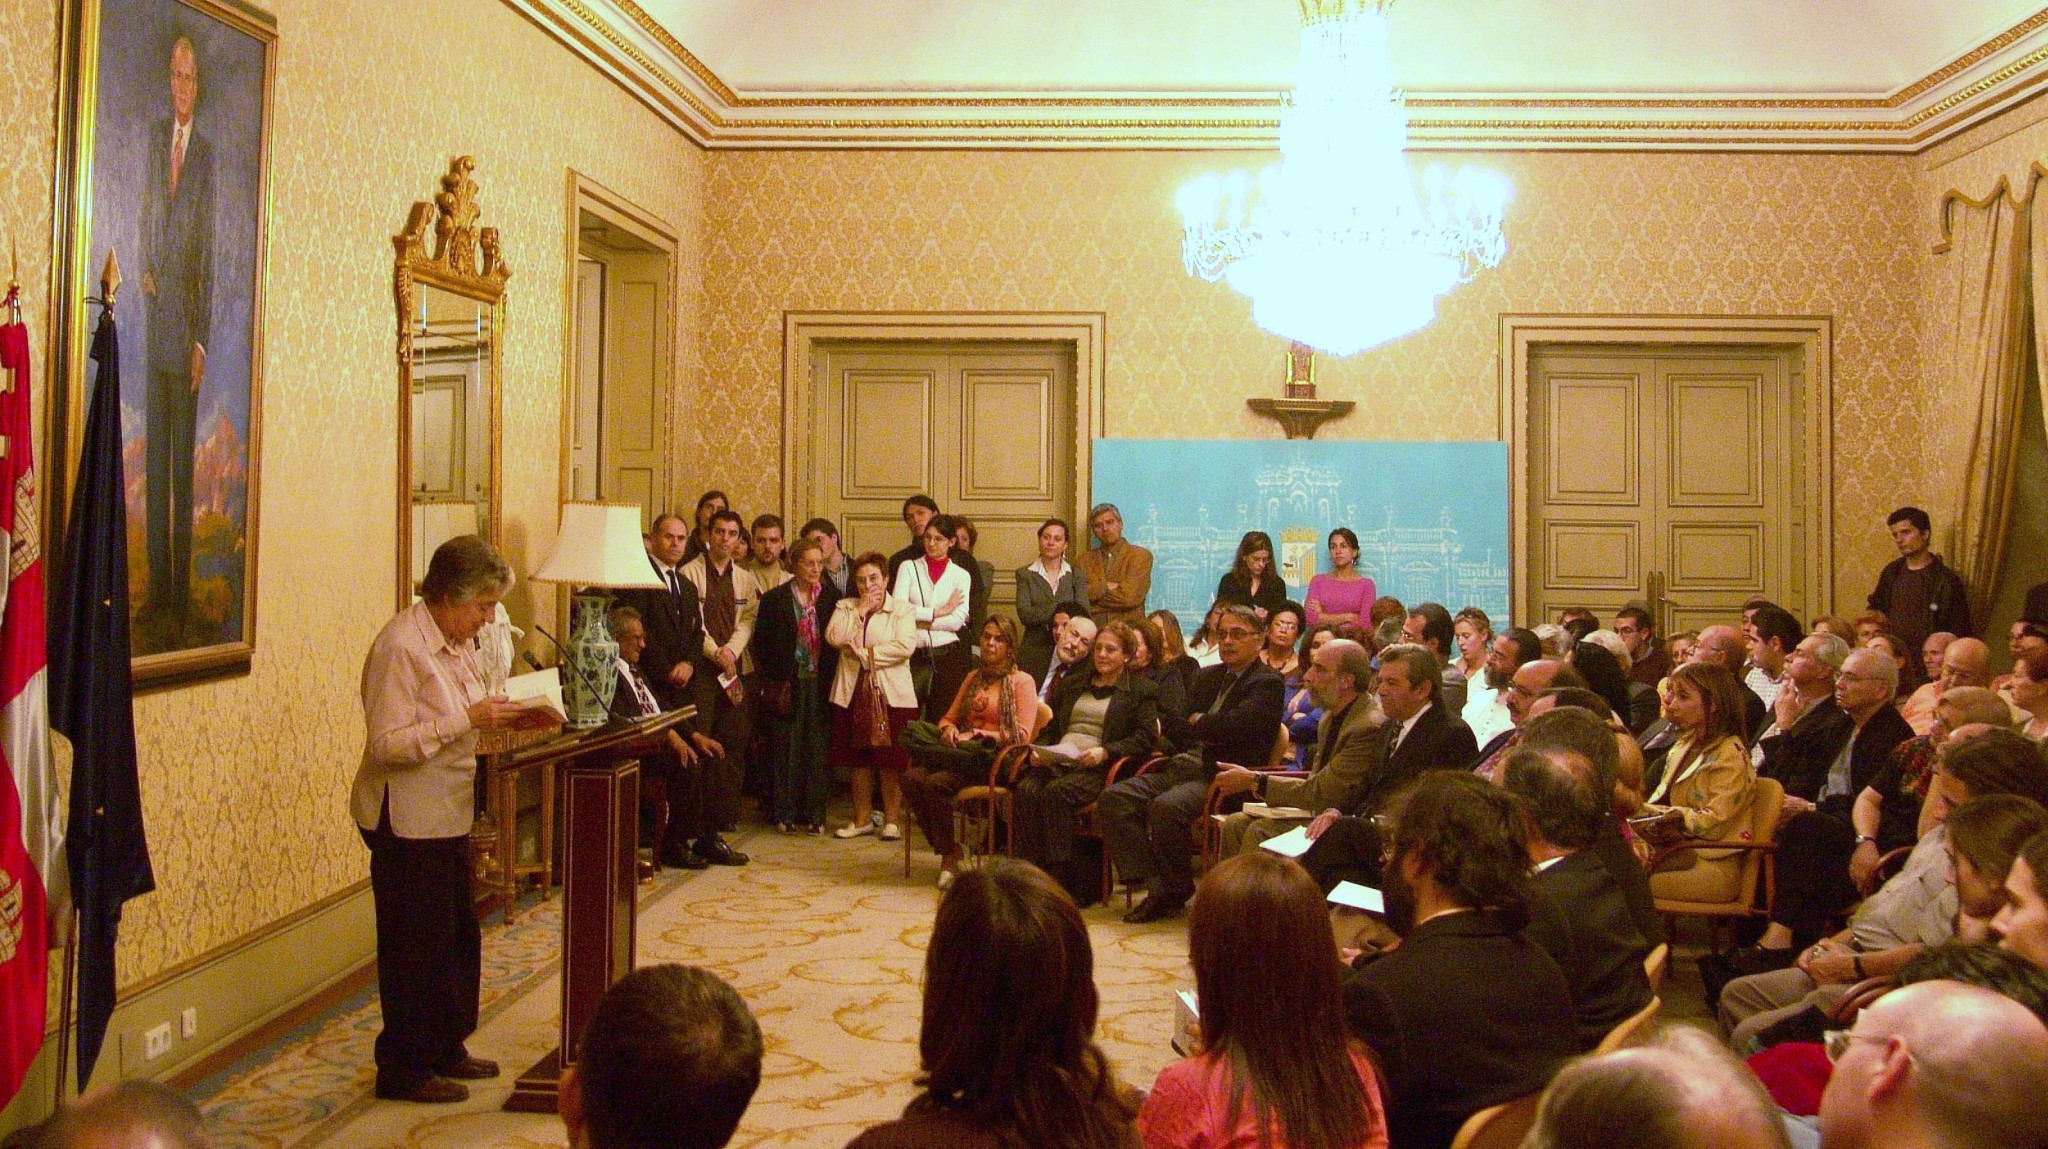
[[[213,143],[193,123],[199,55],[170,45],[170,111],[150,135],[141,197],[143,311],[150,317],[147,455],[150,598],[182,616],[193,588],[193,436],[213,326]]]

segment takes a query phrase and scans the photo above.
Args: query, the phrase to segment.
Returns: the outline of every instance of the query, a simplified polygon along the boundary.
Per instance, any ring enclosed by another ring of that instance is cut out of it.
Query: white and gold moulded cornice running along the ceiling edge
[[[735,92],[635,0],[508,0],[713,150],[1272,150],[1280,92]],[[2048,84],[2048,8],[1884,96],[1409,90],[1432,150],[1919,152]]]

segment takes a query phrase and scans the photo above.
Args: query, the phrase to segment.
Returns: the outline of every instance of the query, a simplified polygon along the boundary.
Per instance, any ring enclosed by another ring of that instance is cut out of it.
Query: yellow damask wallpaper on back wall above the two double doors
[[[1102,311],[1110,436],[1276,436],[1247,395],[1280,387],[1278,338],[1180,266],[1174,193],[1247,164],[1204,154],[719,154],[711,168],[698,401],[684,485],[750,512],[778,498],[784,309]],[[1896,156],[1454,156],[1513,180],[1509,256],[1395,344],[1319,363],[1360,410],[1325,434],[1493,438],[1499,315],[1835,317],[1837,598],[1886,559],[1882,512],[1919,481],[1925,246]],[[1878,528],[1866,528],[1878,522]]]

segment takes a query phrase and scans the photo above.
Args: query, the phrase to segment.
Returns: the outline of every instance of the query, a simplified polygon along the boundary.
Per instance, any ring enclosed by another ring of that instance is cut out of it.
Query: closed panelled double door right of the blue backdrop
[[[1792,598],[1792,350],[1552,346],[1530,356],[1532,621],[1651,602],[1661,633]],[[1653,600],[1651,596],[1657,594]]]

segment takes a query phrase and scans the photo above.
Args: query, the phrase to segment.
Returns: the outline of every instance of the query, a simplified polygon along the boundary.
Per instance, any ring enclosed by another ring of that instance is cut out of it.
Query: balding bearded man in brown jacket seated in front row
[[[1393,651],[1405,649],[1409,647],[1393,647]],[[1405,713],[1409,709],[1405,700],[1419,696],[1421,705],[1427,707],[1430,694],[1427,684],[1421,684],[1421,690],[1407,690],[1405,682],[1411,668],[1401,653],[1393,651],[1382,668],[1401,684],[1393,688],[1401,698],[1397,700],[1397,709],[1403,711],[1395,723],[1405,723],[1411,717]],[[1309,655],[1309,672],[1303,676],[1303,690],[1315,696],[1315,707],[1323,715],[1321,729],[1311,739],[1311,756],[1305,762],[1309,776],[1276,778],[1245,766],[1225,766],[1217,772],[1217,789],[1225,795],[1255,791],[1262,803],[1276,807],[1290,805],[1307,811],[1346,811],[1368,805],[1368,789],[1378,791],[1386,786],[1386,793],[1393,793],[1393,786],[1399,786],[1401,778],[1395,778],[1389,770],[1384,737],[1378,735],[1384,719],[1380,707],[1374,707],[1374,698],[1368,694],[1370,686],[1372,655],[1366,653],[1366,647],[1346,639],[1325,641]],[[1442,709],[1438,713],[1442,715]],[[1253,848],[1294,825],[1300,825],[1300,821],[1278,817],[1253,819],[1243,811],[1233,813],[1223,819],[1223,856]]]

